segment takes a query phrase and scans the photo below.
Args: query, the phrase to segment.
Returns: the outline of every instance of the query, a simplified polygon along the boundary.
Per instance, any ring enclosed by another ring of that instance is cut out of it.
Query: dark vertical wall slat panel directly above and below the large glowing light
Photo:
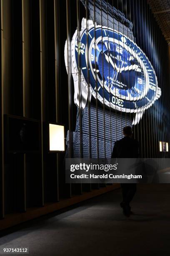
[[[56,14],[57,7],[56,1],[48,1],[45,3],[46,16],[44,15],[44,27],[46,26],[46,32],[44,33],[44,42],[46,42],[46,94],[44,95],[44,101],[46,109],[44,112],[44,121],[56,123],[59,120],[58,112],[58,100],[59,100],[59,56],[57,55],[57,45],[58,34],[55,31],[55,26],[57,23],[58,15]],[[55,16],[56,15],[56,16]],[[45,24],[46,22],[46,24]],[[57,23],[58,25],[58,23]],[[46,35],[46,38],[45,38]],[[57,38],[56,38],[57,37]],[[45,51],[45,48],[44,48]],[[44,92],[45,93],[45,92]],[[45,136],[45,134],[44,134]],[[58,191],[58,156],[57,153],[44,152],[44,184],[45,184],[45,201],[47,202],[57,202],[59,198]],[[50,175],[49,175],[50,173]]]

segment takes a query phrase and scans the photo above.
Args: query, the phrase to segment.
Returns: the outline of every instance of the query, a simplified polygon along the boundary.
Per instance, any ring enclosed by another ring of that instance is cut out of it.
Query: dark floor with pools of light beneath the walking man
[[[120,200],[117,189],[29,222],[0,238],[0,255],[4,247],[23,246],[32,256],[169,256],[170,184],[138,185],[130,218]]]

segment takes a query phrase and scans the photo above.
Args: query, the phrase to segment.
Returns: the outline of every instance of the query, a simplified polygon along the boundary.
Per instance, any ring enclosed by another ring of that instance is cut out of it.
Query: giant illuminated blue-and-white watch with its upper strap
[[[85,0],[81,1],[86,6]],[[143,112],[153,105],[161,95],[153,66],[145,53],[135,44],[132,23],[125,18],[123,13],[105,1],[95,0],[96,19],[94,20],[93,0],[88,1],[88,8],[91,19],[82,19],[80,41],[78,42],[76,30],[71,42],[75,104],[79,108],[78,82],[80,77],[78,74],[81,70],[81,107],[85,109],[85,113],[88,112],[86,109],[87,98],[93,96],[105,104],[106,108],[111,109],[110,115],[113,121],[116,110],[117,113],[121,113],[118,120],[121,119],[123,124],[136,125],[142,118]],[[94,23],[95,21],[97,23]],[[67,67],[67,43],[65,44],[65,63]],[[88,94],[88,84],[90,95]],[[102,115],[102,109],[100,112]],[[123,113],[135,113],[134,119],[131,120],[130,117],[127,117],[128,115],[125,119]],[[107,117],[106,110],[107,118],[109,116]],[[97,121],[100,122],[100,120]],[[86,123],[88,125],[88,121]],[[109,137],[109,134],[107,136],[107,127],[104,126],[106,137]],[[114,128],[114,124],[112,125],[112,121],[110,121],[110,130],[114,130]],[[85,127],[84,129],[87,130]],[[122,129],[122,125],[120,129]],[[111,131],[113,139],[111,138],[110,141],[121,138],[121,132],[115,136],[116,132],[117,129]],[[112,150],[113,145],[111,144]],[[102,147],[101,150],[103,150]]]

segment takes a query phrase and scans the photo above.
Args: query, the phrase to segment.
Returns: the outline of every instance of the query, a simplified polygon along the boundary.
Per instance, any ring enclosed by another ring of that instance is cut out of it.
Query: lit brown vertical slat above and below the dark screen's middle
[[[31,118],[31,22],[30,22],[30,0],[22,0],[22,87],[23,87],[23,116]],[[29,156],[23,156],[23,211],[28,207],[27,198],[29,197],[28,175],[30,170],[28,168]]]

